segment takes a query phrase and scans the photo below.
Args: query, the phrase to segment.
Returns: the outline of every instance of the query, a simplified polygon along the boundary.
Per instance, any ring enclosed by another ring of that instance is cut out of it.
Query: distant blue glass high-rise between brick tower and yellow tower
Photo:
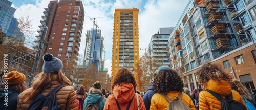
[[[100,68],[102,61],[102,49],[104,37],[101,36],[100,29],[87,30],[86,51],[84,52],[84,65],[95,65]]]

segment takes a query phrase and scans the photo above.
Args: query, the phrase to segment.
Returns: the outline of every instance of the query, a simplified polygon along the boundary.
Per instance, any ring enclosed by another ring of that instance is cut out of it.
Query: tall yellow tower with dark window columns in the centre
[[[139,62],[138,14],[138,8],[115,9],[112,38],[112,79],[119,68],[124,67],[132,71]],[[136,78],[136,74],[134,75]]]

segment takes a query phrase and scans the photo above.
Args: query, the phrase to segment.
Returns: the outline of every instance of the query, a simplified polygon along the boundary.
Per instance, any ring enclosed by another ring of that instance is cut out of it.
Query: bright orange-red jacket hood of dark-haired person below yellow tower
[[[129,102],[134,97],[134,87],[131,83],[122,82],[119,85],[115,85],[113,89],[113,95],[118,103]]]

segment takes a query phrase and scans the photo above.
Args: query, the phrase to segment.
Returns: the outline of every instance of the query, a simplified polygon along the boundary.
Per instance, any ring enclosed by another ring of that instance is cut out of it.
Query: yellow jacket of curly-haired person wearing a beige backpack
[[[170,91],[167,93],[167,96],[169,98],[172,98],[173,96],[178,96],[178,94],[179,92],[177,91]],[[173,98],[173,100],[175,99],[176,97]],[[182,94],[181,101],[187,104],[192,110],[196,109],[196,107],[194,106],[193,100],[188,95]],[[152,96],[150,109],[153,109],[153,110],[167,109],[168,104],[169,104],[168,100],[166,100],[161,94],[156,93]]]

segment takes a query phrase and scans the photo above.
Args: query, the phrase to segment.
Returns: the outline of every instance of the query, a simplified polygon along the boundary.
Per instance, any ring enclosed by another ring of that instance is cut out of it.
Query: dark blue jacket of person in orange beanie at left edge
[[[1,109],[8,109],[8,110],[13,110],[13,109],[17,109],[17,98],[18,98],[18,95],[19,93],[8,88],[7,89],[8,92],[5,92],[3,88],[0,89],[0,108]],[[5,98],[5,94],[8,93],[8,97]],[[7,105],[6,106],[6,102],[5,100],[7,100]]]

